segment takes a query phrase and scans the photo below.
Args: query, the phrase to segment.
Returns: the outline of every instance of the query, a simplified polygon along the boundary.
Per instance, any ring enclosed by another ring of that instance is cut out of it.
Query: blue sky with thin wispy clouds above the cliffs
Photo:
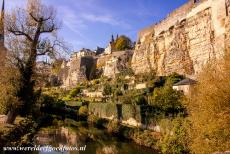
[[[26,0],[5,0],[6,9],[25,6]],[[60,36],[77,51],[106,47],[111,35],[125,34],[136,41],[150,26],[188,0],[42,0],[57,9]]]

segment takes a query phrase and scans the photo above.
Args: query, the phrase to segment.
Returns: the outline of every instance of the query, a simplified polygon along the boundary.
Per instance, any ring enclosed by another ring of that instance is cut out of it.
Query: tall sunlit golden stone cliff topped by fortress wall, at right
[[[196,75],[208,61],[223,57],[229,25],[226,1],[189,1],[141,30],[132,58],[135,73]]]

